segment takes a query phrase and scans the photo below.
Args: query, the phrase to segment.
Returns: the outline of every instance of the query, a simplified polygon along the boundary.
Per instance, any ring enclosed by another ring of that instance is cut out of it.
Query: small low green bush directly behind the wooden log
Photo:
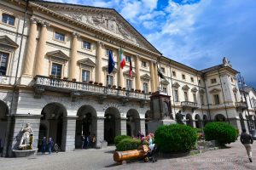
[[[119,144],[116,145],[116,150],[137,150],[137,147],[142,144],[141,139],[122,139]]]

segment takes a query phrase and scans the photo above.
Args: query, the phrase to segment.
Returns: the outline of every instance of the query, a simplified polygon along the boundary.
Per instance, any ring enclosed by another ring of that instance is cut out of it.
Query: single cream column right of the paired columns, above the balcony
[[[71,59],[70,59],[70,66],[69,66],[69,80],[73,78],[78,79],[77,77],[77,52],[78,52],[78,37],[79,34],[77,32],[73,32],[72,37],[72,45],[71,45]]]

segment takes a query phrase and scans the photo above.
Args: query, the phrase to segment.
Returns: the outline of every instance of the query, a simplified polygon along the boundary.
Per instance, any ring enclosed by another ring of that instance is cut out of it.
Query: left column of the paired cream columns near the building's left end
[[[31,76],[33,72],[34,59],[37,47],[37,20],[31,18],[29,36],[26,45],[26,56],[24,60],[24,67],[22,75]]]

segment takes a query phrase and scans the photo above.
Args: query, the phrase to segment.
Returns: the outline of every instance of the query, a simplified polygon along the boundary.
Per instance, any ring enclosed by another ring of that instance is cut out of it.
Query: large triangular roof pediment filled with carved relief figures
[[[119,37],[127,42],[134,43],[141,48],[160,54],[160,52],[154,48],[143,35],[131,26],[131,24],[113,8],[97,8],[71,3],[52,3],[43,1],[32,3],[48,8],[49,10],[54,11],[55,14],[67,16],[74,21],[79,21],[80,23],[96,28],[97,30],[111,34],[113,37]],[[70,24],[73,24],[72,21]]]

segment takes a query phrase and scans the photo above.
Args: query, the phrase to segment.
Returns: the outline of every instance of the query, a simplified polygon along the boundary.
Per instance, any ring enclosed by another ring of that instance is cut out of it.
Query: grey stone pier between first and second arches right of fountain
[[[71,151],[75,149],[77,116],[67,116],[63,118],[61,150]]]

